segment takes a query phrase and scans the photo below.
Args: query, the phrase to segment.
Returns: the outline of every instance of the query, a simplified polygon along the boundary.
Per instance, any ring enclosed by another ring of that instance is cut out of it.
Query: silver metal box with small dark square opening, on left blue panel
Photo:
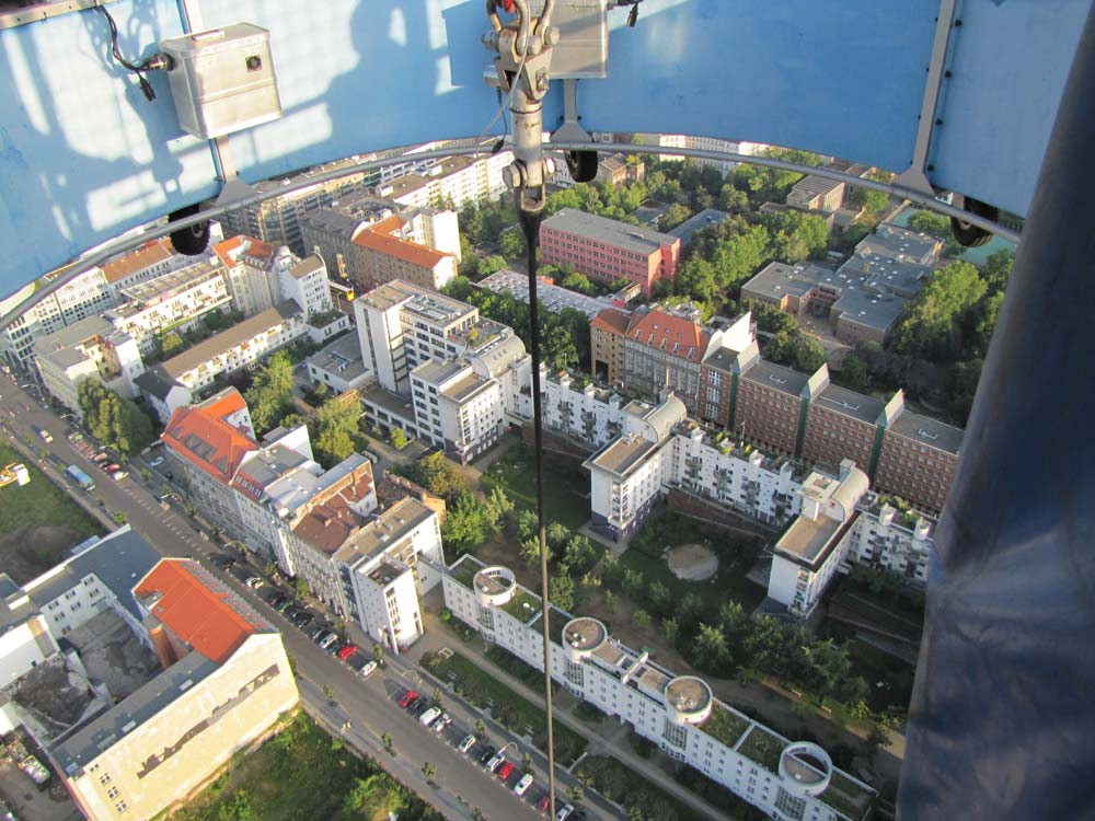
[[[161,41],[178,125],[212,139],[281,117],[270,34],[250,23]]]

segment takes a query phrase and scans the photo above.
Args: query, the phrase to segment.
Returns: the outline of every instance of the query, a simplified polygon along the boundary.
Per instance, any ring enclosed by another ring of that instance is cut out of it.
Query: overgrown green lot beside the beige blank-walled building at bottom
[[[342,741],[300,713],[257,750],[238,754],[217,779],[173,821],[440,821],[425,801],[384,773],[358,759]],[[162,817],[161,817],[162,818]]]

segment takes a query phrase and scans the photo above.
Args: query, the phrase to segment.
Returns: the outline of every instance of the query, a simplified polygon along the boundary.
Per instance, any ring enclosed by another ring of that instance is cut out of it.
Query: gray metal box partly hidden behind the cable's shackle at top
[[[533,16],[544,0],[532,0]],[[609,76],[608,0],[555,0],[551,24],[558,27],[550,77],[554,80],[603,80]]]

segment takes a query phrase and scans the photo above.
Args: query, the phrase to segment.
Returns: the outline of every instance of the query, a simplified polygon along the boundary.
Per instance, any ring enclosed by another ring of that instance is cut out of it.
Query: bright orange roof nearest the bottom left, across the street
[[[134,594],[175,638],[218,664],[250,636],[269,628],[233,605],[232,594],[191,559],[161,559]]]

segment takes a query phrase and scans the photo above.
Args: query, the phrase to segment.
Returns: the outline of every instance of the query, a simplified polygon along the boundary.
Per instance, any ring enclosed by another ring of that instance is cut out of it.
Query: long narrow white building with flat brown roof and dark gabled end
[[[296,301],[286,300],[153,366],[136,382],[160,420],[166,423],[218,374],[253,365],[307,333],[303,311]]]

